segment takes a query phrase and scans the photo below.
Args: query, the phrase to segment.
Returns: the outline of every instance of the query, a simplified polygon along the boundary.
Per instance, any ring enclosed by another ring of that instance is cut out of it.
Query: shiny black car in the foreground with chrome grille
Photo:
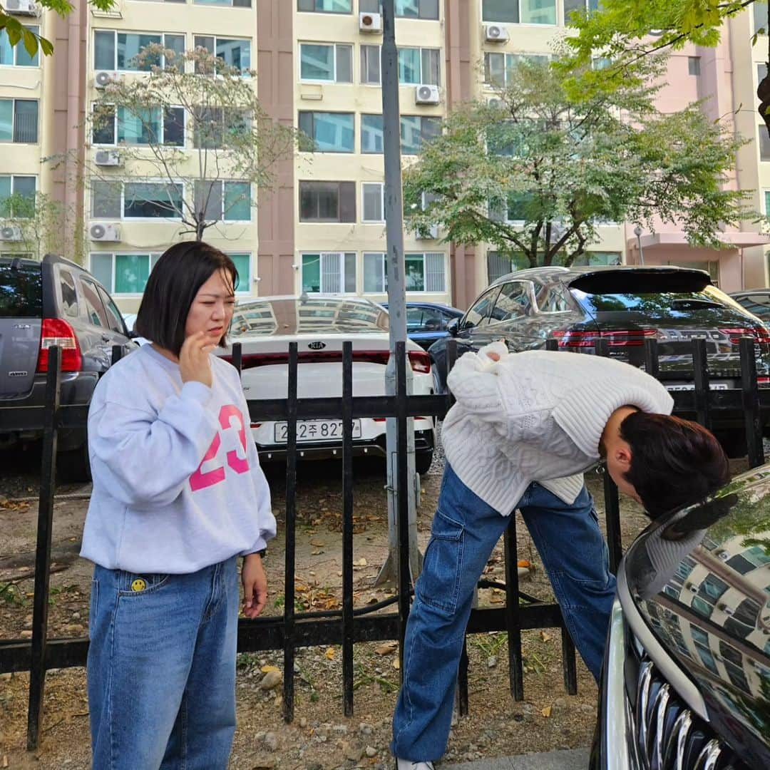
[[[592,770],[770,767],[770,464],[618,568]]]

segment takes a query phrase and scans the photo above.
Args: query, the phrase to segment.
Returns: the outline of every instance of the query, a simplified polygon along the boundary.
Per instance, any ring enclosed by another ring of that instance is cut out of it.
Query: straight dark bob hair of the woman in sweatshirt
[[[134,324],[136,333],[178,356],[192,300],[217,270],[229,273],[235,290],[238,270],[225,253],[203,241],[169,246],[149,274]],[[226,333],[219,346],[225,345]]]

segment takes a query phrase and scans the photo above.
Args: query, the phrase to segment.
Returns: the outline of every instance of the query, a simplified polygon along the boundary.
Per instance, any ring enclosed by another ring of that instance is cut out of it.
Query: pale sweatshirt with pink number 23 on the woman
[[[276,534],[237,371],[182,384],[150,345],[99,380],[89,408],[93,492],[81,556],[109,569],[186,574]]]

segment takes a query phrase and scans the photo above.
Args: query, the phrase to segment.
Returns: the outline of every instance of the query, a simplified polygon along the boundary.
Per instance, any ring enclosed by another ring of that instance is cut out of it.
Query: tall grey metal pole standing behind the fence
[[[407,293],[403,259],[403,201],[401,199],[401,123],[398,105],[398,52],[393,0],[383,0],[382,45],[383,153],[385,163],[385,231],[387,233],[387,302],[390,314],[390,358],[385,392],[396,395],[396,346],[407,340]],[[413,391],[412,367],[407,366],[407,393]],[[417,484],[414,469],[414,420],[407,420],[407,489],[397,480],[397,420],[387,419],[388,556],[376,584],[396,581],[398,549],[398,495],[406,494],[409,511],[409,564],[412,577],[420,571],[417,551]],[[402,587],[403,588],[403,587]]]

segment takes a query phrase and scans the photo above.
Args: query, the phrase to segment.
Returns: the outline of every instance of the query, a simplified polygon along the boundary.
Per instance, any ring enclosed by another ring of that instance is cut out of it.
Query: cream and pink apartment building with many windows
[[[593,7],[594,0],[395,0],[404,165],[440,131],[454,105],[493,96],[490,82],[504,79],[516,57],[550,55],[565,17],[586,3]],[[35,14],[32,3],[25,7]],[[102,169],[104,179],[119,184],[116,196],[76,180],[74,162],[67,173],[66,164],[53,169],[42,159],[69,150],[95,162],[96,153],[109,159],[122,143],[138,141],[130,131],[120,136],[117,126],[99,137],[83,127],[100,79],[141,78],[131,69],[132,56],[149,42],[175,51],[203,45],[256,70],[253,86],[263,107],[314,143],[313,152],[276,164],[273,189],[247,191],[256,208],[239,206],[236,217],[206,232],[236,260],[241,296],[305,290],[384,300],[379,14],[379,0],[119,0],[112,12],[85,6],[66,21],[49,12],[29,15],[29,24],[53,39],[55,54],[42,61],[0,46],[0,132],[18,144],[0,158],[0,197],[38,189],[75,209],[82,243],[74,215],[62,243],[83,255],[124,310],[135,309],[154,259],[179,238],[163,197],[193,191],[169,192],[159,182],[153,206],[145,180],[144,203],[136,206],[137,182],[125,166]],[[731,116],[749,142],[730,183],[754,190],[755,207],[767,213],[770,139],[754,96],[766,45],[750,45],[758,24],[765,22],[749,10],[726,25],[716,49],[676,52],[660,99],[662,109],[705,99],[709,115]],[[192,146],[183,132],[175,141]],[[243,194],[238,179],[223,183],[223,200],[226,188]],[[725,229],[725,249],[716,251],[691,248],[671,226],[637,237],[632,225],[606,225],[583,261],[692,265],[708,269],[726,290],[765,286],[770,239],[759,230],[751,222]],[[407,296],[466,307],[490,280],[517,266],[484,244],[457,246],[440,235],[405,233]],[[14,249],[10,242],[0,247]]]

